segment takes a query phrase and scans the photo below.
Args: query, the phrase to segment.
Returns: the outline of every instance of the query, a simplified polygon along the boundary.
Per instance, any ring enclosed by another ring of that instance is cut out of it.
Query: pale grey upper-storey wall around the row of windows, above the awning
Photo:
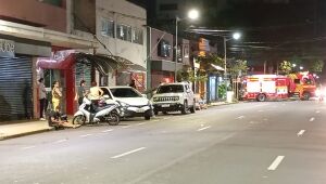
[[[146,10],[125,0],[97,0],[97,36],[108,48],[100,45],[96,49],[97,54],[116,55],[124,57],[135,64],[147,67],[147,31]],[[102,35],[102,21],[113,21],[115,32],[117,24],[130,26],[133,29],[142,30],[142,44],[122,40],[115,37]],[[109,84],[115,84],[114,74],[110,75]],[[145,84],[146,86],[146,84]]]

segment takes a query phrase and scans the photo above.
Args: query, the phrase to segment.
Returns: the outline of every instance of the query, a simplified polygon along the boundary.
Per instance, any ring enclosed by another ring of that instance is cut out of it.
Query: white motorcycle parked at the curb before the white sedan
[[[85,96],[78,111],[74,115],[73,124],[108,122],[110,126],[117,126],[121,119],[120,104],[109,100],[109,96],[104,95],[103,97],[104,100],[101,100],[99,105],[92,109],[92,102]]]

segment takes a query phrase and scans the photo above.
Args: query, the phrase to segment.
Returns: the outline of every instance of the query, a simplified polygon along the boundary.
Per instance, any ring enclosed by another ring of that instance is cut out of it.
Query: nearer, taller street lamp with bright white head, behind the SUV
[[[175,70],[174,70],[174,80],[176,82],[177,79],[177,63],[178,63],[178,22],[184,19],[197,19],[199,17],[199,12],[196,9],[192,9],[188,12],[188,17],[179,18],[178,16],[175,17]]]

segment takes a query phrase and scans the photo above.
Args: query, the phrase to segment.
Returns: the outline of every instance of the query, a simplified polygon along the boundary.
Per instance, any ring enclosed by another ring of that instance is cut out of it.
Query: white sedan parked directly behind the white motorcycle
[[[150,101],[131,87],[101,87],[104,95],[118,102],[123,107],[123,117],[145,117],[149,120],[152,115]]]

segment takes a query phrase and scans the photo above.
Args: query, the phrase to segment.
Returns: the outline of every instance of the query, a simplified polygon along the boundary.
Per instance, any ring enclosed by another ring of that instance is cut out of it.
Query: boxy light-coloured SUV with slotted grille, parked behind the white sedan
[[[164,83],[161,84],[156,93],[151,98],[154,114],[159,111],[166,114],[167,111],[178,111],[186,114],[187,110],[195,113],[195,95],[188,82]]]

